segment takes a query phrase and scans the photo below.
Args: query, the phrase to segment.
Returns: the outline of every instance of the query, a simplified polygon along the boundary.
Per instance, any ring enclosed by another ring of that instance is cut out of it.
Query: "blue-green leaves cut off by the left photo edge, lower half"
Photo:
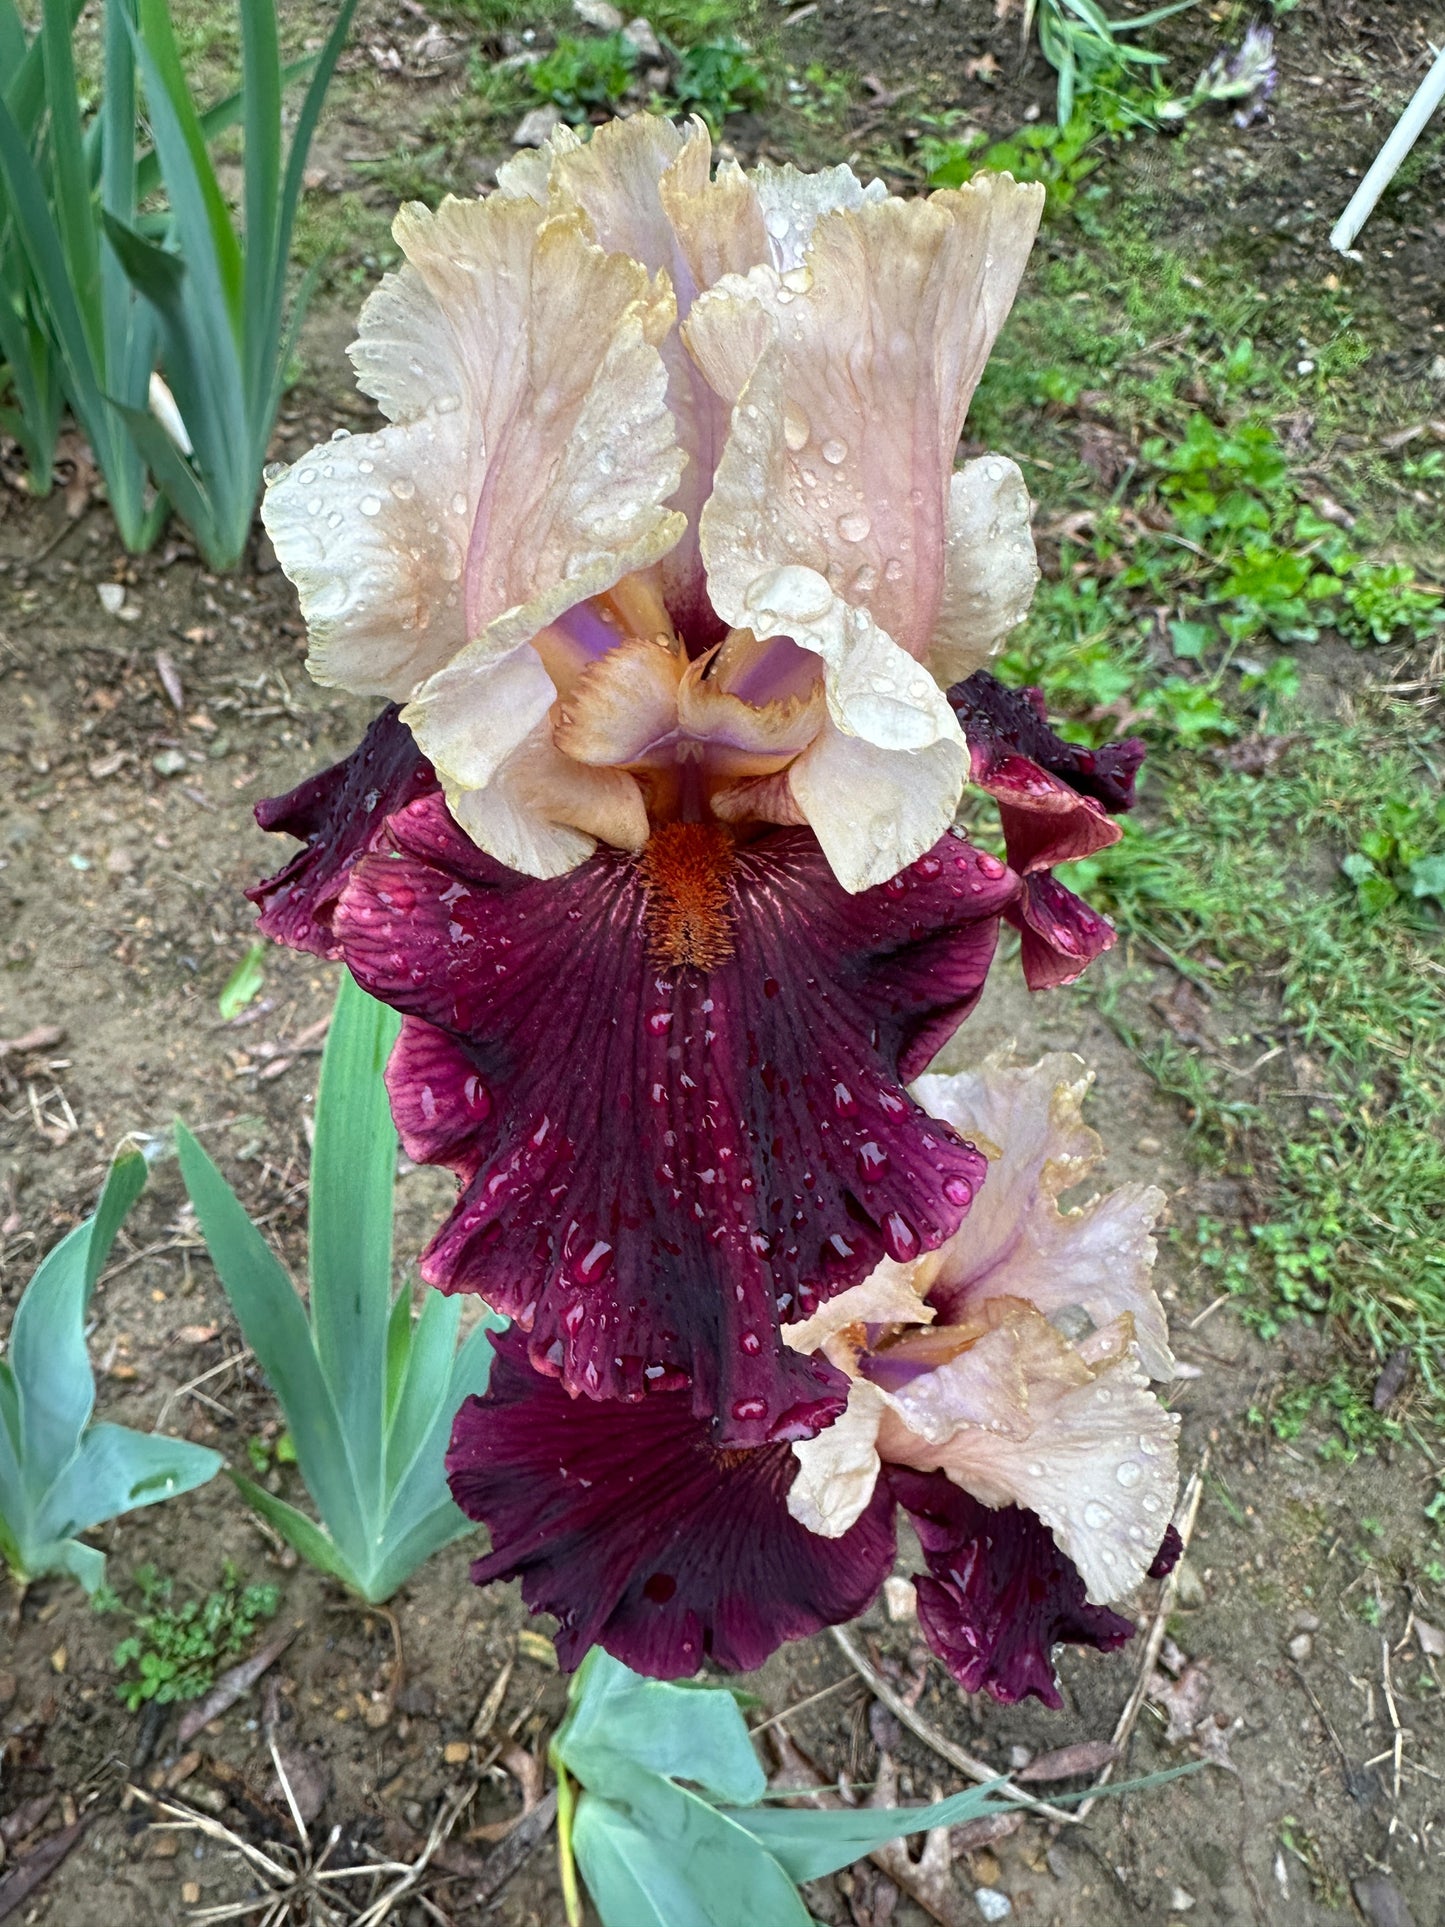
[[[0,1557],[21,1584],[69,1572],[94,1592],[106,1559],[79,1534],[204,1486],[222,1466],[204,1445],[91,1422],[85,1316],[144,1177],[141,1152],[116,1158],[94,1216],[56,1245],[25,1287],[0,1359]]]

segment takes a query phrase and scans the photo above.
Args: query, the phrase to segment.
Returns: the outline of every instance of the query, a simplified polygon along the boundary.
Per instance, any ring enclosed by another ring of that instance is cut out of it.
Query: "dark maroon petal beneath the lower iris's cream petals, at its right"
[[[890,1466],[888,1484],[929,1561],[917,1580],[923,1636],[965,1692],[1006,1705],[1035,1694],[1058,1707],[1054,1646],[1110,1653],[1133,1634],[1133,1621],[1089,1603],[1073,1561],[1033,1513],[990,1511],[942,1472]]]

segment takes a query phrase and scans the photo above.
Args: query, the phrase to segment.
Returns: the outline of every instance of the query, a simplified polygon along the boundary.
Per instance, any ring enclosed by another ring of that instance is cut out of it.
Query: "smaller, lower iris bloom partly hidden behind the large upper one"
[[[644,1671],[755,1667],[780,1640],[852,1617],[892,1569],[894,1509],[929,1571],[919,1621],[967,1690],[1058,1705],[1052,1650],[1110,1650],[1110,1609],[1177,1555],[1173,1376],[1150,1285],[1160,1191],[1060,1210],[1098,1162],[1071,1056],[923,1077],[917,1095],[986,1147],[963,1229],[788,1326],[848,1376],[807,1439],[719,1447],[686,1397],[572,1405],[509,1333],[449,1457],[457,1503],[491,1530],[478,1582],[520,1578],[590,1644]]]

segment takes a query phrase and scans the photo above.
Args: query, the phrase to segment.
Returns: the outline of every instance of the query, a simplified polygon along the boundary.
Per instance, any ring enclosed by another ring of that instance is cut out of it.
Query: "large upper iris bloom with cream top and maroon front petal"
[[[268,489],[312,673],[389,705],[264,805],[306,848],[254,894],[408,1019],[393,1108],[462,1181],[424,1274],[724,1445],[842,1409],[780,1322],[985,1172],[904,1085],[1023,888],[952,831],[944,690],[1037,580],[1017,468],[954,451],[1038,204],[563,129],[403,210],[389,426]]]

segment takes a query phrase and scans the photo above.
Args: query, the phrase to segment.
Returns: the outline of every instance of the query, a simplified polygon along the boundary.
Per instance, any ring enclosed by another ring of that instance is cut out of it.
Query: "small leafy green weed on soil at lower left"
[[[121,1613],[131,1623],[131,1632],[116,1648],[114,1663],[127,1675],[116,1686],[116,1696],[133,1713],[146,1700],[160,1705],[198,1700],[210,1690],[218,1667],[241,1653],[279,1601],[276,1586],[243,1586],[229,1559],[220,1590],[183,1605],[171,1605],[173,1582],[154,1567],[137,1567],[133,1580],[141,1596],[139,1609],[129,1607],[108,1586],[94,1597],[98,1613]]]

